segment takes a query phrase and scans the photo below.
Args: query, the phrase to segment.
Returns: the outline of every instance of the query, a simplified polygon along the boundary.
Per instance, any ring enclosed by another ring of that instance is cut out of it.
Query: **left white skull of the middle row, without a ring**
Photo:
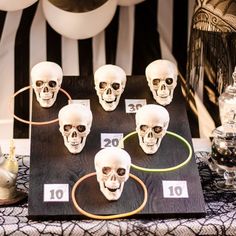
[[[69,104],[61,108],[58,118],[65,146],[72,154],[80,153],[90,133],[92,112],[84,105]]]

